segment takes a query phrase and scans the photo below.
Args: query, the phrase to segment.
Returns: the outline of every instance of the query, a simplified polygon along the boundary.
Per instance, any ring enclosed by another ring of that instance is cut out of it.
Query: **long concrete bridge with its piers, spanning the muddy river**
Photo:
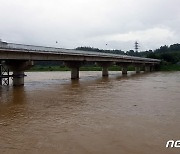
[[[134,65],[136,73],[139,73],[142,66],[144,71],[150,72],[160,63],[160,60],[150,58],[15,44],[2,41],[0,41],[0,60],[4,61],[5,65],[13,72],[14,86],[24,84],[24,71],[31,68],[34,61],[63,61],[71,69],[71,79],[79,78],[79,68],[85,62],[96,62],[101,66],[102,76],[108,76],[108,67],[111,65],[121,66],[122,74],[127,74],[127,67],[129,65]]]

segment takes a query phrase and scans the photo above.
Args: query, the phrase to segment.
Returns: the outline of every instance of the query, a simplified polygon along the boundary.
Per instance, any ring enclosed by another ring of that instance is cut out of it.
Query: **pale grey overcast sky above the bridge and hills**
[[[180,43],[180,0],[0,0],[0,39],[76,48]],[[57,42],[56,42],[57,41]]]

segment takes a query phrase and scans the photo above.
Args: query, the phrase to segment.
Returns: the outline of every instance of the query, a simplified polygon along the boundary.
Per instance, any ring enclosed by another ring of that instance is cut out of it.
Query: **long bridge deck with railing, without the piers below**
[[[134,57],[127,55],[102,53],[102,52],[92,52],[92,51],[81,51],[73,49],[62,49],[54,47],[44,47],[44,46],[34,46],[34,45],[24,45],[15,43],[0,42],[0,51],[11,51],[11,52],[22,52],[22,53],[41,53],[41,54],[56,54],[56,55],[69,55],[69,56],[87,56],[87,57],[101,57],[101,58],[115,58],[124,60],[137,60],[144,62],[159,63],[160,60]]]

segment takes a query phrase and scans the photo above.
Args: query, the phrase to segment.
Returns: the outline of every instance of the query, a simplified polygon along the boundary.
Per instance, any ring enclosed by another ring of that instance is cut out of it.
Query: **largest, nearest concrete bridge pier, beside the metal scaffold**
[[[8,68],[13,71],[13,86],[24,85],[24,71],[33,66],[33,61],[9,60]]]

